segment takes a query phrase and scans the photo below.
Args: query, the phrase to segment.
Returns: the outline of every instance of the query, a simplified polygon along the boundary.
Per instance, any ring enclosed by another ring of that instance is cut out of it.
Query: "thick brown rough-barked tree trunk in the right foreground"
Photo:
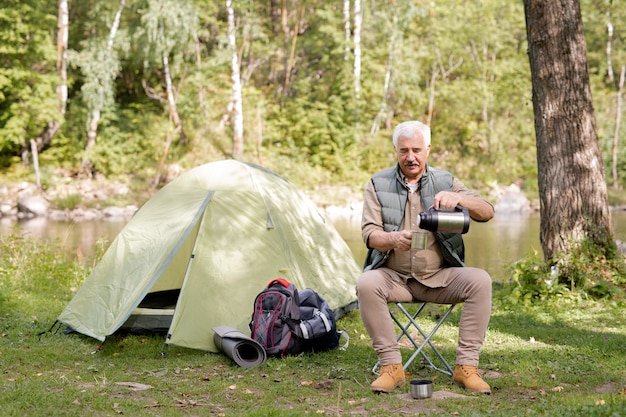
[[[524,0],[546,261],[612,241],[579,0]]]

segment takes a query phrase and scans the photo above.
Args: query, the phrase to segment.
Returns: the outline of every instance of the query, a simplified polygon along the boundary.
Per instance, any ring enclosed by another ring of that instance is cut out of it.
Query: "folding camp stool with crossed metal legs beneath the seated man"
[[[441,325],[446,321],[446,319],[448,318],[448,316],[450,315],[450,313],[452,312],[452,310],[455,307],[455,304],[451,304],[448,309],[446,310],[446,312],[439,318],[439,320],[437,321],[437,323],[435,324],[435,326],[432,328],[432,330],[427,334],[426,331],[420,327],[420,325],[415,321],[417,319],[417,316],[420,315],[420,313],[424,310],[424,307],[426,307],[426,302],[422,302],[422,301],[415,301],[414,303],[411,304],[419,304],[419,306],[417,307],[417,310],[415,311],[415,313],[410,313],[405,307],[404,305],[402,305],[402,303],[395,303],[396,306],[398,307],[398,309],[400,310],[400,312],[402,314],[404,314],[404,316],[406,317],[406,319],[408,319],[408,322],[406,324],[402,324],[402,322],[400,321],[401,319],[404,320],[404,318],[398,318],[396,317],[396,315],[400,315],[400,313],[396,313],[394,314],[394,312],[392,311],[392,309],[389,309],[389,314],[391,315],[391,318],[393,319],[393,321],[398,325],[398,327],[400,328],[400,332],[398,333],[398,337],[396,338],[396,340],[399,342],[400,339],[402,339],[403,337],[406,337],[409,342],[411,342],[411,344],[415,347],[415,351],[413,352],[413,354],[411,355],[411,357],[409,359],[407,359],[404,364],[402,365],[402,368],[406,371],[407,368],[411,365],[411,363],[413,363],[413,361],[415,360],[415,358],[417,358],[419,355],[422,356],[425,366],[428,366],[436,371],[439,371],[443,374],[452,376],[452,368],[450,367],[450,365],[448,364],[448,362],[445,360],[445,358],[441,355],[441,352],[439,352],[439,349],[437,349],[435,347],[435,345],[433,344],[433,342],[431,341],[431,338],[435,335],[435,333],[437,333],[437,330],[439,330],[439,327],[441,327]],[[417,331],[422,335],[422,337],[424,338],[424,340],[421,343],[418,343],[418,341],[416,341],[412,336],[411,336],[411,329],[412,328],[417,329]],[[437,355],[437,357],[439,358],[439,361],[441,362],[443,367],[438,367],[436,366],[432,359],[426,354],[426,352],[424,352],[424,348],[426,346],[430,346],[431,350],[433,351],[433,353],[435,355]],[[380,366],[380,362],[376,362],[376,364],[374,365],[374,367],[372,368],[372,372],[377,374],[378,373],[378,368]]]

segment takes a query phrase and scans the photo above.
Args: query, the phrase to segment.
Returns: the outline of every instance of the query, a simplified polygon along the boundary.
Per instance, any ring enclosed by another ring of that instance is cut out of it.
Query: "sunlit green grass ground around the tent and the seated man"
[[[346,351],[269,359],[250,369],[175,346],[162,356],[162,336],[113,336],[98,350],[94,339],[48,332],[93,266],[63,253],[54,244],[0,238],[0,415],[626,415],[623,304],[510,306],[496,289],[480,365],[493,394],[469,395],[415,365],[409,378],[431,378],[435,391],[450,395],[417,401],[406,399],[407,386],[371,393],[376,357],[358,311],[338,323],[350,335]],[[460,312],[436,336],[449,362]]]

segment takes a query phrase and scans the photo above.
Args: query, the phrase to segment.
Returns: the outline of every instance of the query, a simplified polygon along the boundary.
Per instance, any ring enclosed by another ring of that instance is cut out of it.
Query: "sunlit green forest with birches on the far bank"
[[[582,0],[613,197],[626,8]],[[237,158],[295,184],[361,188],[395,124],[432,126],[430,163],[475,188],[537,193],[524,6],[499,0],[4,0],[5,178],[127,178]],[[37,161],[35,161],[35,158]],[[611,196],[610,196],[611,198]]]

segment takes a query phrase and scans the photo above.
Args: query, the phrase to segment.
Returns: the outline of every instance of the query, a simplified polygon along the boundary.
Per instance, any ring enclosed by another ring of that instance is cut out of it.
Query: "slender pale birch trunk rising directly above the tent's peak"
[[[235,13],[232,1],[226,0],[228,10],[228,41],[232,52],[231,74],[232,74],[232,120],[233,120],[233,153],[235,159],[243,158],[243,105],[241,97],[241,77],[239,76],[239,59],[237,57],[237,42],[235,37]]]

